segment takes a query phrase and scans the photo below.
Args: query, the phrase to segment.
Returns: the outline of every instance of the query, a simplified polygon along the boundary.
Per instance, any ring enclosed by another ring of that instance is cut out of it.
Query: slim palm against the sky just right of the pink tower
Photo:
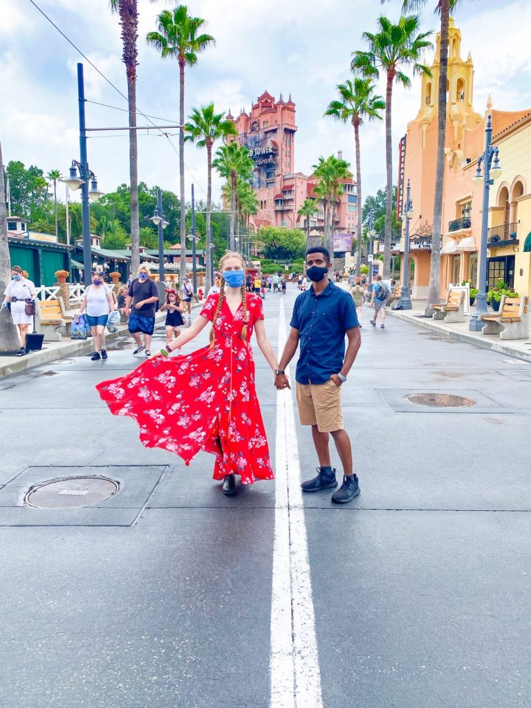
[[[357,216],[358,224],[356,231],[361,235],[361,157],[360,157],[360,125],[365,118],[369,120],[382,120],[379,111],[384,110],[385,101],[382,96],[374,96],[375,84],[371,79],[355,77],[354,81],[348,79],[344,84],[337,87],[339,93],[338,101],[331,101],[324,115],[330,115],[343,123],[351,122],[354,126],[354,140],[356,146],[356,183],[357,183]],[[356,245],[356,275],[360,276],[361,268],[361,238],[358,237]]]

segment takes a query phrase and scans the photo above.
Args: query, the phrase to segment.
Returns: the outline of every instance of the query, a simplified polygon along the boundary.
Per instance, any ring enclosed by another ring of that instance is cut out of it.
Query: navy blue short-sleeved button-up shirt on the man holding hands
[[[345,335],[359,327],[352,297],[333,282],[315,295],[313,287],[295,300],[290,326],[299,331],[299,384],[324,384],[337,374],[345,358]]]

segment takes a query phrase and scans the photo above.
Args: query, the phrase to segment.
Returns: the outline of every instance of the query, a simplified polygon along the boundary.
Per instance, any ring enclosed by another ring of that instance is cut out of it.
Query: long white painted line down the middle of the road
[[[278,350],[286,340],[280,301]],[[295,386],[295,379],[290,378]],[[277,393],[270,708],[322,708],[292,392]]]

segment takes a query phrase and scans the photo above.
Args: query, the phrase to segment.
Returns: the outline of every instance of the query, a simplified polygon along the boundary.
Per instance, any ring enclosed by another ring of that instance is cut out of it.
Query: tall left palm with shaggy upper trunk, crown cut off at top
[[[109,0],[112,12],[120,16],[123,53],[127,76],[127,104],[129,108],[129,178],[131,183],[131,270],[136,273],[140,265],[140,240],[138,217],[138,148],[137,148],[137,0]]]

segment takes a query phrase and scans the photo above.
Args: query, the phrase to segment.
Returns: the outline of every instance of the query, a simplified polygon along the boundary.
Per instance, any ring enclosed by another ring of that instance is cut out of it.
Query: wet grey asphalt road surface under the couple
[[[275,347],[297,292],[265,299]],[[531,365],[368,314],[343,388],[362,493],[339,508],[297,499],[311,435],[258,350],[282,470],[235,498],[212,457],[145,450],[101,403],[137,362],[127,338],[2,379],[1,708],[530,706]],[[404,401],[421,392],[475,405]],[[120,491],[24,506],[76,474]]]

